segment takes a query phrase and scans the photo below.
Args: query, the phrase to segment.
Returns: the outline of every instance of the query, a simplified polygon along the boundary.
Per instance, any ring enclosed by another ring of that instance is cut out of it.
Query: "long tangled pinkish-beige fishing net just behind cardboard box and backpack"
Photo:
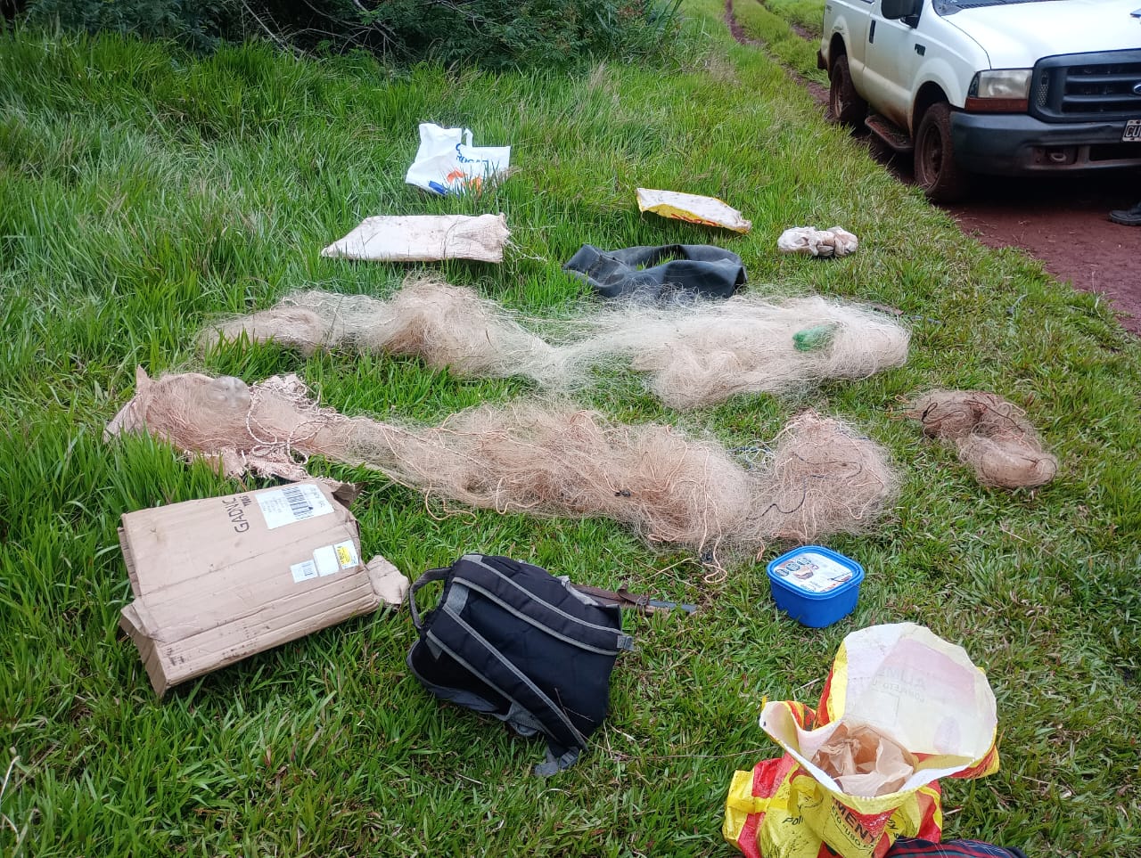
[[[626,424],[566,404],[483,405],[437,427],[347,418],[296,377],[246,387],[184,373],[151,380],[108,435],[147,431],[225,470],[290,479],[323,455],[363,464],[429,499],[499,512],[613,518],[654,543],[712,555],[759,551],[865,529],[897,479],[884,451],[837,420],[793,420],[746,470],[718,444],[654,423]]]

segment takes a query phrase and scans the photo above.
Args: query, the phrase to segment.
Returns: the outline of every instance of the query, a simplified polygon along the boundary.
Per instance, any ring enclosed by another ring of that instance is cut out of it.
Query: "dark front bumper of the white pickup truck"
[[[1125,120],[1042,122],[1025,114],[950,115],[955,161],[994,176],[1141,167],[1141,143],[1122,143]]]

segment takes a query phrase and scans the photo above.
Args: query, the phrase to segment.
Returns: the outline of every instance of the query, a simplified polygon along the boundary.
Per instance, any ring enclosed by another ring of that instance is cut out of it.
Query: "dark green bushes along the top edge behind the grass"
[[[17,0],[8,0],[17,2]],[[195,49],[268,37],[306,51],[486,67],[648,56],[677,31],[679,0],[26,0],[66,29],[176,39]]]

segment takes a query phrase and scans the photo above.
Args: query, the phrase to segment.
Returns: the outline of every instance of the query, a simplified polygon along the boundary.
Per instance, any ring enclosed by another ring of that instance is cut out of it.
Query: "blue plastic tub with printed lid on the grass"
[[[777,607],[793,620],[823,629],[856,609],[864,567],[820,545],[803,545],[769,562]]]

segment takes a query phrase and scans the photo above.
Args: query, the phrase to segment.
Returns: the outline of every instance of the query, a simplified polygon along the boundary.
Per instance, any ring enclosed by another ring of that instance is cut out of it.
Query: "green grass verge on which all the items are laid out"
[[[905,620],[962,644],[998,698],[1003,768],[944,783],[948,836],[1033,856],[1141,851],[1141,348],[1104,302],[981,248],[892,180],[777,64],[731,40],[719,3],[686,9],[678,58],[584,75],[396,75],[262,47],[194,58],[112,38],[0,37],[0,774],[18,756],[0,855],[729,856],[730,775],[776,753],[756,726],[762,698],[815,704],[844,634]],[[518,173],[479,200],[405,187],[420,121],[511,144]],[[639,216],[638,185],[720,196],[754,229]],[[761,564],[707,583],[691,558],[652,553],[608,521],[438,520],[375,475],[318,463],[363,481],[365,551],[410,575],[502,552],[702,610],[629,618],[639,650],[618,663],[612,715],[555,780],[527,775],[539,744],[429,698],[405,670],[400,614],[156,701],[116,631],[129,599],[119,518],[240,484],[147,439],[104,444],[135,366],[249,381],[296,371],[346,413],[423,421],[523,395],[523,382],[413,361],[194,348],[216,314],[297,288],[395,288],[403,268],[319,257],[362,217],[482,210],[508,214],[505,262],[438,270],[531,313],[582,297],[560,266],[584,242],[715,242],[741,253],[754,290],[913,319],[905,369],[796,403],[679,416],[629,396],[632,385],[593,394],[620,418],[734,445],[771,437],[806,405],[887,444],[904,475],[898,508],[871,535],[830,543],[868,570],[855,615],[804,629],[774,608]],[[776,236],[802,224],[840,224],[860,250],[779,257]],[[897,419],[933,386],[1022,404],[1061,458],[1058,479],[980,488]]]

